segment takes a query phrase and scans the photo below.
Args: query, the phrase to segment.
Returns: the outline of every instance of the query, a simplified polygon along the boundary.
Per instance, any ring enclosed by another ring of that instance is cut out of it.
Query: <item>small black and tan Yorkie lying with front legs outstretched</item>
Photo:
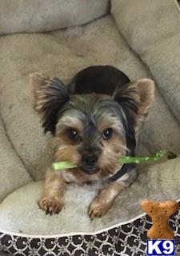
[[[44,132],[53,134],[57,144],[54,162],[78,166],[47,170],[39,207],[46,214],[57,214],[67,183],[106,179],[88,209],[90,218],[101,217],[136,177],[135,165],[121,165],[118,157],[134,155],[142,119],[154,101],[154,82],[130,82],[113,66],[90,66],[67,86],[42,74],[31,74],[30,83]]]

